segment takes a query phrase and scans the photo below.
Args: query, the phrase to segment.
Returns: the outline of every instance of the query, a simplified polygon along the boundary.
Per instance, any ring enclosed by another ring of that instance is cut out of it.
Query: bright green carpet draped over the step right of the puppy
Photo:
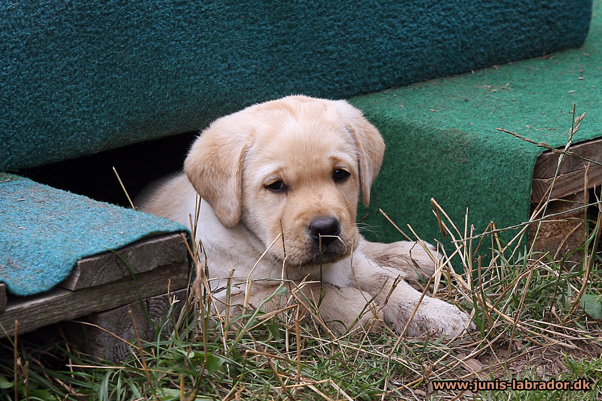
[[[403,239],[379,213],[409,234],[442,240],[429,199],[464,230],[529,218],[530,183],[545,149],[496,131],[503,127],[553,147],[566,144],[573,103],[586,112],[573,141],[602,136],[602,2],[594,4],[585,46],[545,58],[350,99],[379,127],[387,151],[372,189],[371,239]],[[508,239],[510,233],[504,234]],[[447,237],[449,240],[449,237]]]

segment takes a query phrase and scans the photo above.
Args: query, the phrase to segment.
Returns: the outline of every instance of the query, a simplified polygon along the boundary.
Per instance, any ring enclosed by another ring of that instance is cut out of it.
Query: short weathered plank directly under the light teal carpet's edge
[[[72,273],[59,286],[79,290],[127,277],[132,272],[151,271],[187,259],[181,233],[161,234],[117,249],[79,260]],[[118,256],[119,255],[119,256]]]

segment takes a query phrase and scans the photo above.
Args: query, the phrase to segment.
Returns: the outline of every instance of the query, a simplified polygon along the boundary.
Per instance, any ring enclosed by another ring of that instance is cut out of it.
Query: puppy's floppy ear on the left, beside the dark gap
[[[243,159],[253,138],[238,113],[222,117],[203,130],[184,162],[188,180],[226,228],[240,220]]]

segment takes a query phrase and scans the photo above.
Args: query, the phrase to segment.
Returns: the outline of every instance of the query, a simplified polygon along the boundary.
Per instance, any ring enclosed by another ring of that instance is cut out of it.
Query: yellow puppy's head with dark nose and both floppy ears
[[[288,96],[214,121],[184,164],[188,179],[220,222],[246,225],[290,265],[329,263],[358,240],[382,163],[377,129],[344,100]]]

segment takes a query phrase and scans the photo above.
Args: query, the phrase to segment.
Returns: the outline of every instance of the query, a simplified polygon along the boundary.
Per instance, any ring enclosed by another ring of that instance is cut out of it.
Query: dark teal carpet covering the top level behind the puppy
[[[580,46],[591,0],[9,1],[0,171]]]

